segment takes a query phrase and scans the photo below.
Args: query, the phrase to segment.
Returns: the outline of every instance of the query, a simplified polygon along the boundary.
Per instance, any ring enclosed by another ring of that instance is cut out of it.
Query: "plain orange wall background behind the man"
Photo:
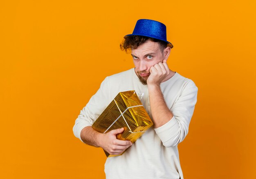
[[[256,178],[254,0],[0,2],[0,178],[104,178],[101,148],[72,132],[140,18],[163,22],[168,65],[198,86],[179,145],[185,179]]]

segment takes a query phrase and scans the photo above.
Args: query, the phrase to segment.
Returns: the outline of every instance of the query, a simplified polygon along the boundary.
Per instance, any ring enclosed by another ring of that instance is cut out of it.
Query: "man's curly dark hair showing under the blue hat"
[[[127,51],[130,51],[131,48],[137,49],[139,45],[144,44],[147,40],[151,40],[152,42],[158,42],[162,50],[164,50],[168,44],[167,42],[155,38],[141,35],[129,35],[124,37],[124,41],[120,44],[120,48],[121,50],[125,50],[127,53]],[[172,45],[170,47],[173,48]]]

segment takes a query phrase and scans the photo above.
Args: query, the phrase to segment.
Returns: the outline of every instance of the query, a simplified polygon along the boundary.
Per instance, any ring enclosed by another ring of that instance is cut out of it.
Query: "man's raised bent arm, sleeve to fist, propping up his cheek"
[[[148,91],[150,109],[155,124],[155,132],[166,147],[176,146],[186,137],[189,123],[197,101],[198,88],[188,80],[186,88],[180,94],[171,109],[168,109],[160,89],[160,82],[169,79],[168,65],[164,60],[150,69]],[[161,81],[162,79],[162,81]]]

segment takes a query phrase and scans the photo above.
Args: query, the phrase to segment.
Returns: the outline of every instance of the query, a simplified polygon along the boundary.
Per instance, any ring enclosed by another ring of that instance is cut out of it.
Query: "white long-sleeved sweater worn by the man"
[[[149,128],[123,155],[107,158],[107,179],[183,179],[177,145],[189,131],[198,88],[177,72],[160,86],[173,118],[159,128]],[[148,87],[141,84],[134,69],[130,69],[106,77],[76,119],[74,135],[81,140],[81,130],[92,126],[119,92],[130,90],[144,93],[141,102],[152,118]]]

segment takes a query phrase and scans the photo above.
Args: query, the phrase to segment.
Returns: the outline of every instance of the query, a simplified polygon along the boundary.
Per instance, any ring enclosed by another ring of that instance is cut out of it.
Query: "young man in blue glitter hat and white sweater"
[[[107,158],[107,179],[183,179],[177,145],[188,133],[198,88],[168,68],[173,45],[161,22],[138,20],[124,39],[121,49],[131,50],[135,68],[106,77],[76,119],[74,135],[113,155],[128,148]],[[116,138],[124,128],[101,134],[91,127],[117,93],[129,90],[144,93],[141,102],[154,123],[134,144]]]

